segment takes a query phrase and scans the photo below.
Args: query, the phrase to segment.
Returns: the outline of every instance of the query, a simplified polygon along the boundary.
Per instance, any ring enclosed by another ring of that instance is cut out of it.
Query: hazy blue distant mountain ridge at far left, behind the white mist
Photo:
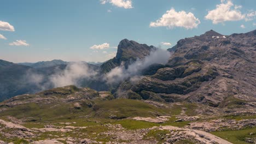
[[[39,92],[42,91],[42,88],[54,88],[51,83],[48,84],[50,76],[61,73],[68,64],[73,63],[75,62],[55,59],[46,62],[16,64],[0,59],[0,101],[15,95]],[[98,69],[96,65],[86,62],[80,63],[89,69]]]

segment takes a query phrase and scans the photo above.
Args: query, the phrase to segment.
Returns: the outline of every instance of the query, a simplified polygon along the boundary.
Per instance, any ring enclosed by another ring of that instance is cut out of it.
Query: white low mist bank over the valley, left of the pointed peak
[[[56,67],[53,74],[47,75],[40,71],[28,70],[25,80],[28,84],[36,86],[38,91],[68,85],[82,86],[84,80],[94,79],[97,71],[84,62],[68,63],[65,69]]]

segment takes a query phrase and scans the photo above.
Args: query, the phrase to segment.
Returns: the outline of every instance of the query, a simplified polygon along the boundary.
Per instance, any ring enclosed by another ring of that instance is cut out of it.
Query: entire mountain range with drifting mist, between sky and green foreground
[[[222,35],[211,30],[179,40],[168,49],[170,53],[124,39],[117,56],[100,67],[61,60],[31,67],[1,61],[0,98],[77,85],[111,91],[121,98],[132,94],[132,99],[185,100],[211,106],[229,97],[254,101],[255,33]]]

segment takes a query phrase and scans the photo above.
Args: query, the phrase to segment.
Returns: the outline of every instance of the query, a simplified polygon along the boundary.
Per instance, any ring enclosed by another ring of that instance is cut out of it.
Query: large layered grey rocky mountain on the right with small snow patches
[[[164,67],[154,67],[154,74],[145,73],[130,88],[124,87],[129,86],[126,81],[118,88],[117,97],[127,97],[124,93],[131,89],[142,99],[185,100],[219,106],[234,97],[245,100],[241,105],[253,106],[256,101],[255,33],[256,30],[222,35],[211,30],[179,40],[169,50],[173,55]]]

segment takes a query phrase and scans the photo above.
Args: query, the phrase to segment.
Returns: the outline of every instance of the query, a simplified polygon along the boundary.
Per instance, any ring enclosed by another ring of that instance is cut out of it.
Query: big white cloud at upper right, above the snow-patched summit
[[[226,2],[226,3],[224,3]],[[216,9],[208,11],[205,16],[207,20],[212,20],[212,23],[217,24],[225,21],[238,21],[245,19],[245,15],[239,10],[241,5],[235,5],[231,0],[222,0],[221,4],[216,5]]]

